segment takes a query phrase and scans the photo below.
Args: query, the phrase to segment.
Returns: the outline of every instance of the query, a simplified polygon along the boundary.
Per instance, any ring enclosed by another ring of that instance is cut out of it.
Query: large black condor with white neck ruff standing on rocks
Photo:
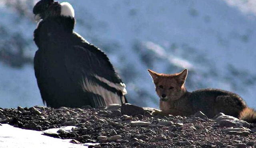
[[[68,2],[41,0],[33,9],[38,26],[34,70],[48,107],[92,107],[126,103],[126,89],[106,54],[73,31]]]

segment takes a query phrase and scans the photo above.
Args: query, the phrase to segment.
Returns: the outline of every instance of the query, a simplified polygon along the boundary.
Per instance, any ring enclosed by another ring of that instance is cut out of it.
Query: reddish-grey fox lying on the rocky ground
[[[229,91],[221,89],[198,89],[189,92],[185,87],[188,70],[180,73],[164,74],[148,69],[160,98],[159,115],[189,116],[202,111],[208,118],[219,112],[234,116],[250,123],[256,123],[256,112],[249,108],[245,101]]]

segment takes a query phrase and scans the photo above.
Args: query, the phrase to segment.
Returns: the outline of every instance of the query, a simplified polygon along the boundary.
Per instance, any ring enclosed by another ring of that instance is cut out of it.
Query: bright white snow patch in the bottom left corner
[[[72,144],[71,139],[53,138],[43,132],[0,126],[0,148],[88,148],[88,144]]]

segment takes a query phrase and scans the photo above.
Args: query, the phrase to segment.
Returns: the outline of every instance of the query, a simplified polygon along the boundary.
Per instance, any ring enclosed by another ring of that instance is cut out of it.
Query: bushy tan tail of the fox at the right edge
[[[245,120],[249,123],[256,123],[256,111],[246,107],[244,110],[242,110],[242,112],[240,112],[239,119]]]

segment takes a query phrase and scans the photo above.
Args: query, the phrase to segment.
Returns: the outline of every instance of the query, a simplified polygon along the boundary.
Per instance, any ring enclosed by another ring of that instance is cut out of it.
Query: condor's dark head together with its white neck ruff
[[[33,13],[37,22],[52,16],[75,16],[74,9],[68,2],[59,3],[54,0],[40,0],[34,6]]]

